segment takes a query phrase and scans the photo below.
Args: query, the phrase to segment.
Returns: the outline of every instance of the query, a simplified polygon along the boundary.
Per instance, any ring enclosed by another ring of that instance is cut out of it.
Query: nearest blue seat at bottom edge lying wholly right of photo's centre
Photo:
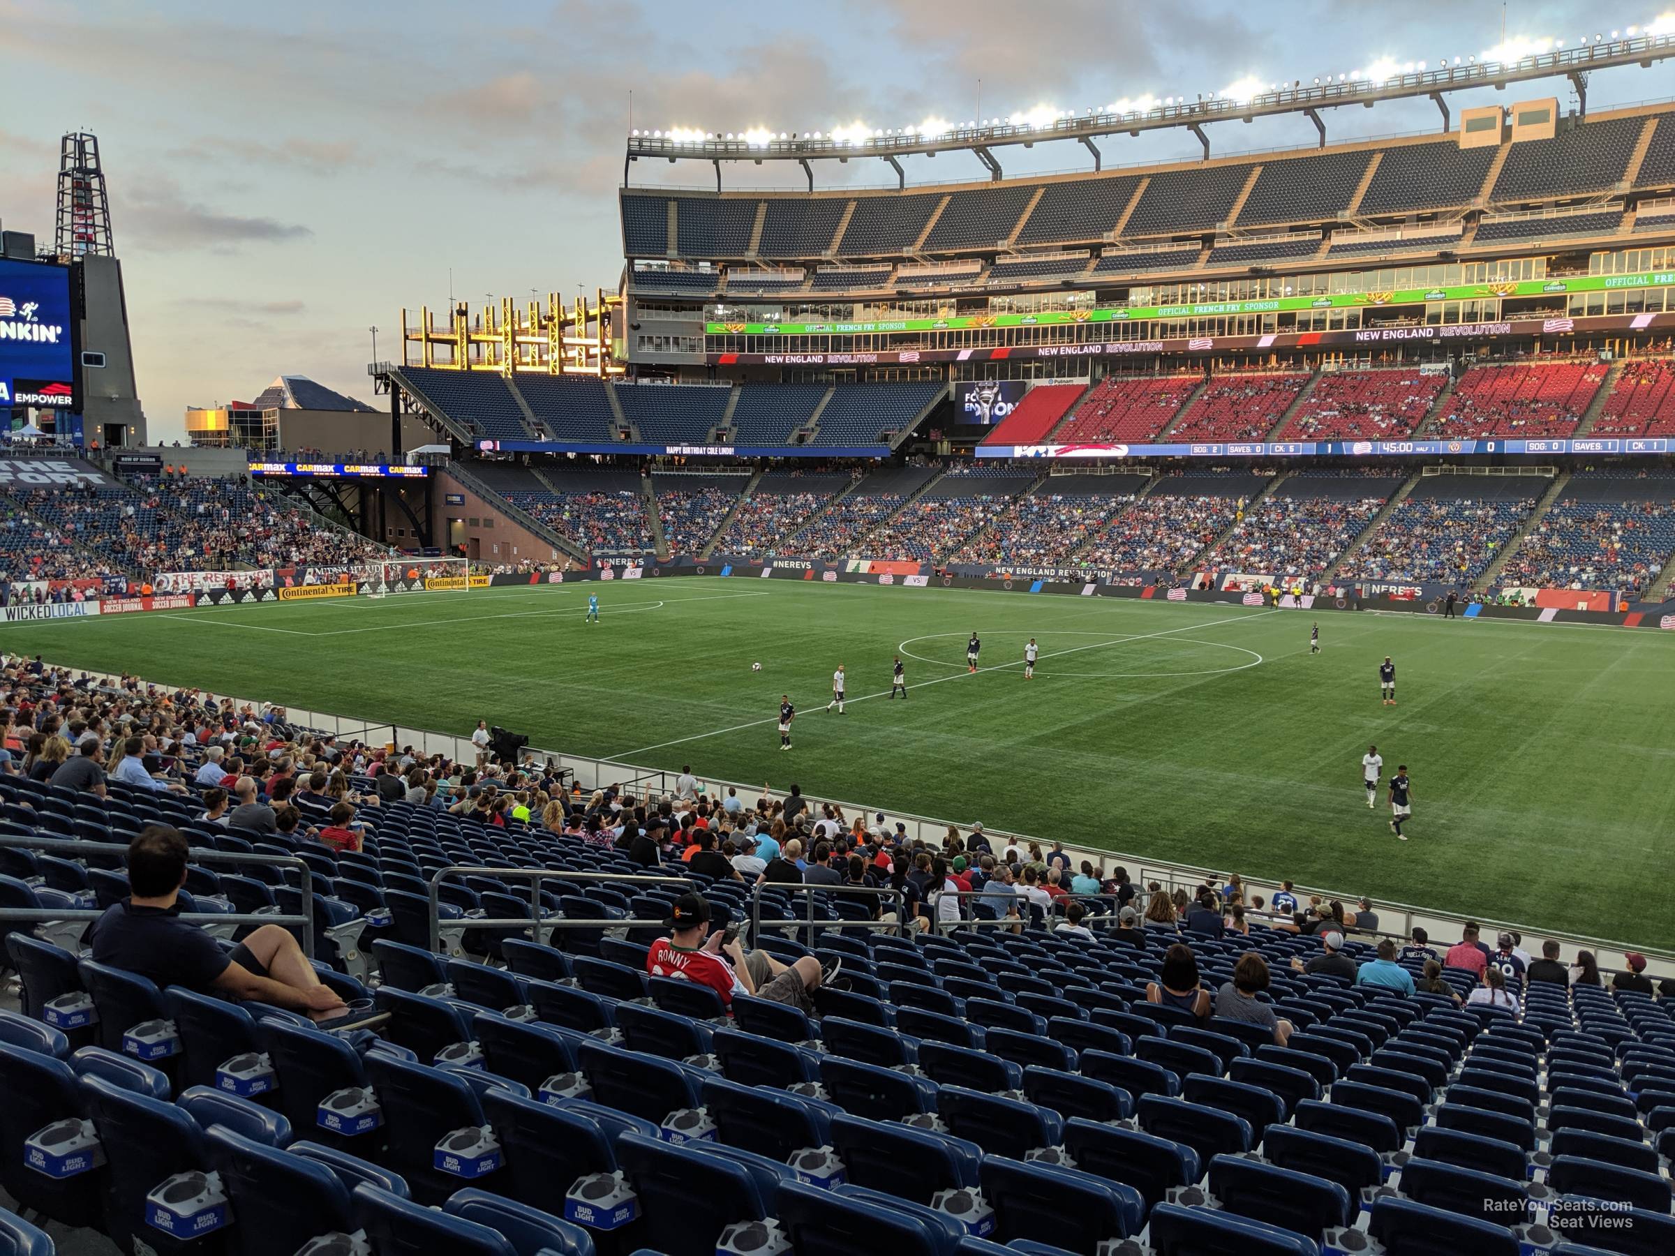
[[[1077,1169],[985,1156],[983,1199],[995,1209],[1002,1241],[1049,1236],[1067,1251],[1139,1234],[1146,1201],[1137,1189]]]

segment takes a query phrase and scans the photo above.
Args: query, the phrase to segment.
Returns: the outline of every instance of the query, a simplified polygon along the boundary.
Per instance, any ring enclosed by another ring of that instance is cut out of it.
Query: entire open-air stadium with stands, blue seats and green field
[[[64,134],[0,1256],[1675,1251],[1672,59],[642,117],[615,281],[184,442]]]

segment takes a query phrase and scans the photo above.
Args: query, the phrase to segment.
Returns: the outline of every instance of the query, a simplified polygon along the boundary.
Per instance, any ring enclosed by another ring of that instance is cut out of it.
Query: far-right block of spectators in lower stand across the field
[[[1642,598],[1672,551],[1670,502],[1558,501],[1506,559],[1501,583]]]

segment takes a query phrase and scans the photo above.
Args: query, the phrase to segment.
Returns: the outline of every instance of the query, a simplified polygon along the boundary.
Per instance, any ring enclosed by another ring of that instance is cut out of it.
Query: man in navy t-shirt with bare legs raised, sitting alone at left
[[[159,988],[260,1000],[315,1020],[342,1017],[343,1000],[320,983],[285,928],[263,924],[228,955],[181,916],[186,849],[186,837],[164,824],[147,826],[129,842],[132,896],[94,921],[94,960],[151,978]]]

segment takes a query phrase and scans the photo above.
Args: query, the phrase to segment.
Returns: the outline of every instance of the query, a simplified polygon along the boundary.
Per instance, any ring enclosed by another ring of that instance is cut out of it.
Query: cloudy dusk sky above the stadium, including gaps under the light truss
[[[1519,3],[1506,33],[1574,40],[1668,7]],[[615,286],[630,124],[831,131],[1082,109],[1476,54],[1499,44],[1501,23],[1502,5],[1482,0],[0,0],[0,221],[50,239],[59,136],[99,136],[141,397],[152,434],[173,439],[186,405],[248,400],[278,373],[365,397],[367,328],[389,355],[397,311],[446,306],[451,268],[472,303]],[[1569,95],[1559,80],[1454,106],[1543,90]],[[1670,95],[1675,69],[1611,70],[1590,107]],[[1412,102],[1327,126],[1350,139],[1439,117]],[[1313,139],[1303,119],[1209,134],[1219,152]],[[1198,151],[1184,132],[1102,147],[1107,167]],[[1002,162],[1022,174],[1085,169],[1089,156],[1059,144]],[[893,179],[859,161],[816,172]],[[630,174],[714,186],[702,164]],[[945,154],[908,178],[983,171]],[[796,166],[724,169],[737,188],[801,179]]]

